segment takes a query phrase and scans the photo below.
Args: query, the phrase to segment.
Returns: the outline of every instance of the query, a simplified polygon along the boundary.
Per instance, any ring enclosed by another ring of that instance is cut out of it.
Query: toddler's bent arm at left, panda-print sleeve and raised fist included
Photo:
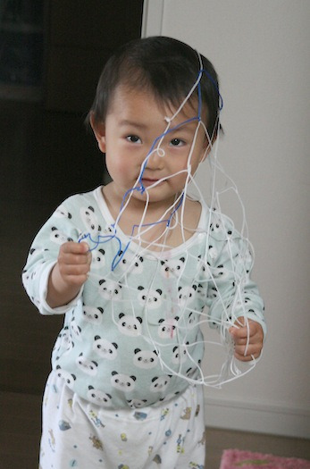
[[[93,205],[89,195],[71,196],[38,231],[29,249],[22,282],[40,314],[65,314],[81,300],[90,267],[81,207]]]

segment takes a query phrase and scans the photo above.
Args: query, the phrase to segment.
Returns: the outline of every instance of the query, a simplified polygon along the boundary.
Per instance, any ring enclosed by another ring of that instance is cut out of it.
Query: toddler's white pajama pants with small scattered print
[[[201,386],[160,406],[111,410],[51,373],[43,399],[39,469],[204,469]]]

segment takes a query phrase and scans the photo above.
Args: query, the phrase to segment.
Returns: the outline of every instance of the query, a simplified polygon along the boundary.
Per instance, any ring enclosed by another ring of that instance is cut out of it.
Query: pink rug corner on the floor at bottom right
[[[279,457],[239,451],[239,449],[225,449],[222,454],[220,469],[310,469],[310,461],[296,457]]]

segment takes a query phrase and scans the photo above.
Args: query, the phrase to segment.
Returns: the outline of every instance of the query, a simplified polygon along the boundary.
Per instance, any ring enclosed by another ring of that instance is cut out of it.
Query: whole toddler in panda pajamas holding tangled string
[[[203,468],[200,323],[239,360],[261,354],[248,243],[188,195],[221,106],[213,65],[178,40],[138,39],[105,65],[88,122],[112,181],[55,210],[22,274],[39,312],[64,316],[42,469]]]

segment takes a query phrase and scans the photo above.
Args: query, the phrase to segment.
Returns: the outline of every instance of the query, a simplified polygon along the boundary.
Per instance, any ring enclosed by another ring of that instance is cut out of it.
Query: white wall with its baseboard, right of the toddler
[[[209,426],[310,438],[309,24],[308,0],[146,2],[145,36],[188,42],[220,75],[219,157],[246,206],[266,304],[263,359],[205,389]]]

